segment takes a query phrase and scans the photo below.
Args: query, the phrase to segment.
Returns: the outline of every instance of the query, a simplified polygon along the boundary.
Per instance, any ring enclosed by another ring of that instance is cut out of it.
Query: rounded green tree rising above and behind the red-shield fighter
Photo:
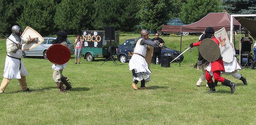
[[[82,28],[87,29],[92,21],[91,0],[62,0],[56,7],[54,23],[58,30],[77,34]]]

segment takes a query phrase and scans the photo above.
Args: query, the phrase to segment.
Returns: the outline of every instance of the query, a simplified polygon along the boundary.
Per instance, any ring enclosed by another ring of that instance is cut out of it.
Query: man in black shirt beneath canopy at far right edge
[[[242,43],[241,51],[243,51],[245,53],[251,52],[253,40],[251,37],[249,37],[248,32],[245,32],[245,37],[242,37],[242,39],[240,41]]]

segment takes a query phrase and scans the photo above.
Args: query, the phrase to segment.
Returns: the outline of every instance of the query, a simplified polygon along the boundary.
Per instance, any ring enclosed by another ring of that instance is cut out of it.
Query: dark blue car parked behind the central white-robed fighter
[[[136,39],[129,39],[126,40],[124,43],[118,45],[118,49],[117,49],[117,59],[118,61],[120,61],[121,63],[126,63],[127,61],[129,61],[133,55],[133,43],[135,42]],[[173,50],[173,49],[169,49],[166,46],[164,46],[164,48],[168,51],[166,52],[166,50],[162,49],[162,53],[161,55],[170,55],[172,54],[172,56],[175,58],[178,55],[180,55],[180,51],[177,50]],[[171,55],[170,55],[171,56]],[[171,57],[171,59],[174,59]],[[181,55],[177,61],[183,61],[184,56]],[[158,57],[156,57],[156,63],[158,63]]]

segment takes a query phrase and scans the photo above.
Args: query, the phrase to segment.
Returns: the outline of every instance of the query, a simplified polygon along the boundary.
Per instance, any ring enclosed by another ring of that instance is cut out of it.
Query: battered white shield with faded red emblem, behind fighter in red
[[[220,42],[219,47],[220,47],[220,55],[222,56],[222,60],[226,63],[231,63],[234,55],[234,52],[233,52],[234,44],[230,42],[226,29],[224,27],[221,28],[220,30],[214,33],[214,36]]]

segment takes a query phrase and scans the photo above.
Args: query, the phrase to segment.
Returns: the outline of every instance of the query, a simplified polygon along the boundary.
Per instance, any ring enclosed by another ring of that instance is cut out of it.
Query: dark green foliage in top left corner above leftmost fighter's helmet
[[[17,25],[16,18],[20,18],[24,4],[25,0],[0,0],[0,33],[12,33],[12,26]]]

